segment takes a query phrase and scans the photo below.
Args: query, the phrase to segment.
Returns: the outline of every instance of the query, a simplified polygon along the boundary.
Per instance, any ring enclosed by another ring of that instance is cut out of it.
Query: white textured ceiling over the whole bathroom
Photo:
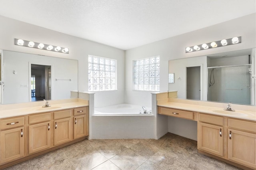
[[[0,15],[131,49],[256,12],[256,0],[0,0]]]

